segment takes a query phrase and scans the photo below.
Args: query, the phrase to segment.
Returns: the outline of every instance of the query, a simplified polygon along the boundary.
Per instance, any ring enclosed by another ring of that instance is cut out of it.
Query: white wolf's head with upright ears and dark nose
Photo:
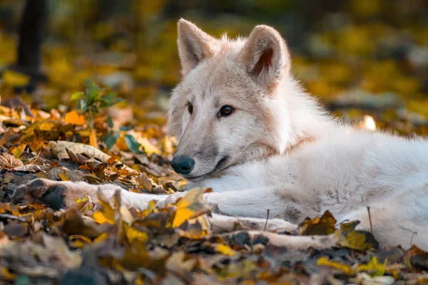
[[[280,33],[256,26],[246,39],[218,39],[181,19],[178,51],[183,81],[168,110],[168,131],[179,141],[176,172],[201,180],[285,151],[292,130],[282,93],[297,86]]]

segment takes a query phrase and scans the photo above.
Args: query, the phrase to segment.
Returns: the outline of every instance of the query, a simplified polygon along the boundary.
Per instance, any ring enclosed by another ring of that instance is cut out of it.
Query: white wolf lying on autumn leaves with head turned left
[[[230,216],[265,218],[270,209],[271,217],[293,223],[328,209],[338,222],[357,219],[366,230],[370,207],[382,246],[408,247],[413,238],[428,249],[426,140],[333,120],[300,88],[286,43],[269,26],[233,40],[213,38],[181,19],[178,50],[183,81],[168,111],[170,135],[179,141],[171,165],[190,185],[213,189],[206,202]],[[67,186],[62,195],[69,199],[96,199],[98,188],[107,195],[115,189],[84,182],[32,184]],[[139,208],[167,197],[121,193],[123,202]]]

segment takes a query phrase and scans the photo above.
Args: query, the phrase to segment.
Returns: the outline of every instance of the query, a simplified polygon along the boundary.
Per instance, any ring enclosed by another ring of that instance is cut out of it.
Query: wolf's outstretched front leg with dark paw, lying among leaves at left
[[[98,202],[98,190],[111,200],[116,191],[121,192],[121,202],[138,209],[146,209],[151,200],[177,199],[177,195],[154,195],[129,192],[117,185],[103,184],[91,185],[87,182],[54,181],[47,179],[36,179],[26,185],[16,188],[13,197],[14,202],[32,202],[38,200],[53,209],[61,209],[76,204],[76,198],[88,197],[92,202]]]

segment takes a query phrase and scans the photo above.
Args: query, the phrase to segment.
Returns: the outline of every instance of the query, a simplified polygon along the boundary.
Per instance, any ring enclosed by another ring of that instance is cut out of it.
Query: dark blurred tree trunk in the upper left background
[[[48,24],[48,0],[27,0],[19,27],[16,69],[34,79],[41,79],[41,45]]]

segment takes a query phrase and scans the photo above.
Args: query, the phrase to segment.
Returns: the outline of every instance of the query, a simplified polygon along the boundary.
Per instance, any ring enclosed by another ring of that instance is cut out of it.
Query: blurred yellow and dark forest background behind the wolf
[[[91,78],[126,98],[123,112],[116,110],[121,123],[163,124],[168,95],[180,80],[176,23],[183,17],[215,36],[274,26],[290,46],[294,73],[337,115],[353,121],[370,114],[380,128],[428,133],[424,0],[31,2],[44,18],[40,31],[27,32],[44,39],[36,72],[19,69],[20,27],[32,23],[31,11],[24,14],[27,1],[0,0],[3,100],[21,93],[34,106],[66,111],[71,94]]]

